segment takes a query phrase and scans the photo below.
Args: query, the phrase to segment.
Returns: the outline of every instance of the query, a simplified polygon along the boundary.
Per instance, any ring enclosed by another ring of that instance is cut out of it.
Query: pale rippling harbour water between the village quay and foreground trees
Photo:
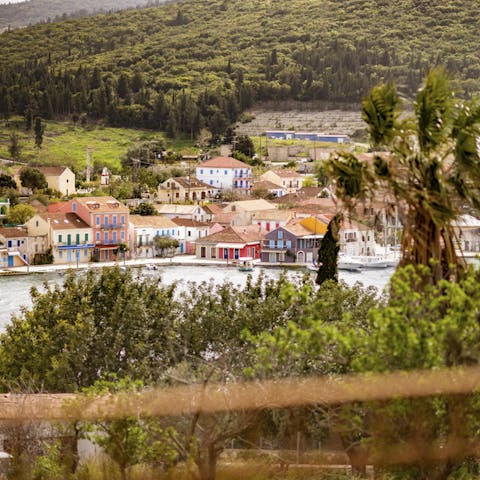
[[[254,278],[263,272],[267,278],[278,278],[282,272],[291,277],[301,276],[304,270],[285,270],[282,268],[259,268],[255,267],[249,272]],[[365,270],[361,273],[339,272],[340,280],[349,285],[361,282],[364,286],[374,286],[382,290],[388,283],[393,269]],[[178,288],[186,288],[188,282],[200,283],[204,280],[212,280],[215,283],[229,281],[236,285],[245,283],[247,273],[240,272],[233,267],[224,266],[199,266],[199,265],[159,265],[156,270],[142,270],[142,275],[159,275],[167,284],[175,283]],[[30,289],[37,287],[42,290],[45,282],[49,284],[63,281],[64,273],[48,272],[33,273],[30,275],[3,276],[0,277],[0,331],[11,319],[11,316],[21,311],[22,306],[31,305]]]

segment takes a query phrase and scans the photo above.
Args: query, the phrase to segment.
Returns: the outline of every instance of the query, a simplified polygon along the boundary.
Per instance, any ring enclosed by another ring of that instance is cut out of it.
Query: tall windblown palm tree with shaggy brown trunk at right
[[[362,103],[371,162],[337,153],[328,170],[337,195],[353,210],[385,192],[403,224],[400,266],[426,265],[426,282],[458,279],[465,269],[455,251],[452,222],[480,206],[480,104],[456,98],[448,75],[430,71],[413,114],[401,111],[393,84],[372,89]]]

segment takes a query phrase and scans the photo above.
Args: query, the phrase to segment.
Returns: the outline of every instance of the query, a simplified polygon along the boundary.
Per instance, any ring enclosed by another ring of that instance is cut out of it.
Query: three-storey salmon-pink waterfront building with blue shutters
[[[104,262],[122,258],[120,244],[128,245],[130,210],[113,197],[78,197],[61,206],[76,213],[93,230],[93,258]]]

